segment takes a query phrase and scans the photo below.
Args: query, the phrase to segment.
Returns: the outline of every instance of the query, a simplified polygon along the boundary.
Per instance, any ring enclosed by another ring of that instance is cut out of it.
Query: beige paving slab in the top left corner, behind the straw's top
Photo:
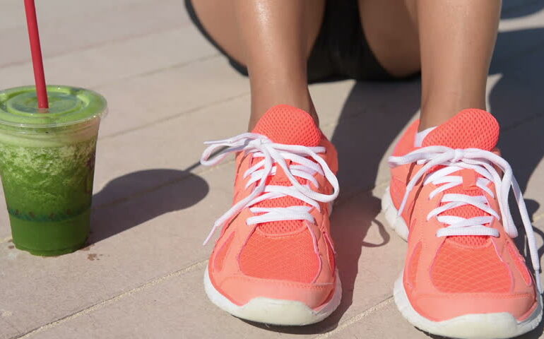
[[[23,3],[9,0],[11,6],[4,11],[2,18],[13,16],[19,25],[0,30],[0,41],[9,48],[2,49],[0,67],[25,63],[30,60],[28,33],[25,28]],[[188,24],[189,18],[183,8],[182,1],[110,1],[110,5],[97,6],[92,4],[82,6],[76,3],[66,5],[70,1],[57,0],[54,4],[39,3],[38,15],[42,7],[47,11],[59,11],[64,6],[79,5],[79,8],[69,10],[66,16],[58,16],[52,20],[40,21],[40,38],[42,53],[45,57],[75,52],[116,40],[147,35],[153,32],[164,32]],[[60,11],[63,13],[62,11]],[[13,19],[12,19],[13,20]],[[39,17],[38,20],[41,20]],[[47,70],[47,64],[45,64]]]

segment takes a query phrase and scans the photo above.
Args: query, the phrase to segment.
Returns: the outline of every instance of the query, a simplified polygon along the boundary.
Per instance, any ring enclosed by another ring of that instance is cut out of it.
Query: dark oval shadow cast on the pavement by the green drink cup
[[[206,181],[188,170],[147,169],[113,179],[93,196],[88,245],[189,208],[207,194]]]

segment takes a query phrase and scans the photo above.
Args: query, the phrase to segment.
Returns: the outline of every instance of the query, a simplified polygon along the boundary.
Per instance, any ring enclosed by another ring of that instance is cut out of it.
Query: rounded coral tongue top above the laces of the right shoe
[[[422,147],[480,148],[492,150],[499,141],[499,123],[482,109],[463,109],[437,126],[423,139]]]

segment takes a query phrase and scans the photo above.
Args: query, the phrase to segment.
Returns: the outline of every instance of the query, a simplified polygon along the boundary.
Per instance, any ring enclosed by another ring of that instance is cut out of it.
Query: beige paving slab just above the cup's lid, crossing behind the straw
[[[45,58],[47,81],[53,84],[100,88],[126,78],[189,64],[217,55],[200,39],[193,25],[155,32],[131,39]],[[69,71],[66,71],[69,70]],[[34,82],[29,61],[0,67],[0,88]]]

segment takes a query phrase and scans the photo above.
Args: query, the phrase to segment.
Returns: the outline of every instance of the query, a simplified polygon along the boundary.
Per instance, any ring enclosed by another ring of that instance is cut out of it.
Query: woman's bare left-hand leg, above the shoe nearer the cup
[[[304,109],[317,121],[307,59],[325,0],[193,0],[204,28],[227,54],[247,66],[252,92],[249,130],[273,105]]]

